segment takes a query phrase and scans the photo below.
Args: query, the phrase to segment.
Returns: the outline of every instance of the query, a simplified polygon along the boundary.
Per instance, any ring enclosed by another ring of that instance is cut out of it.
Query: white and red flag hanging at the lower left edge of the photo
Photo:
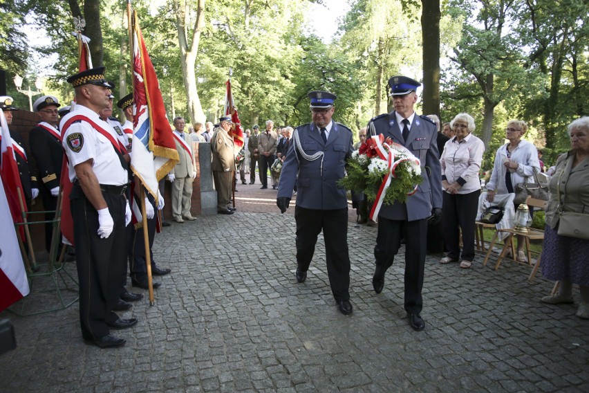
[[[6,123],[3,114],[2,120]],[[0,176],[0,311],[29,292],[17,232],[10,219],[11,212],[4,192],[6,185],[2,179],[3,175]]]

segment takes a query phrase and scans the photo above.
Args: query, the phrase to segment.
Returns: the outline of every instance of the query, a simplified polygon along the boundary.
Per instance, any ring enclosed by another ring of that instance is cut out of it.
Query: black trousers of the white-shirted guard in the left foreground
[[[106,239],[97,234],[98,213],[80,185],[74,185],[70,205],[75,233],[75,260],[80,283],[80,327],[84,340],[109,334],[106,322],[115,322],[113,312],[119,299],[120,277],[125,265],[124,195],[102,192],[113,217],[113,232]]]

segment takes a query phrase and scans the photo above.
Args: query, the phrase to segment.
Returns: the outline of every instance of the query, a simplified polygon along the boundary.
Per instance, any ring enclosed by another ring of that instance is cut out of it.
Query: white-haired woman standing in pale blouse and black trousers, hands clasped
[[[474,230],[480,180],[478,171],[483,161],[485,144],[472,135],[474,118],[468,113],[458,113],[450,122],[455,136],[447,141],[440,161],[442,163],[442,228],[447,256],[440,264],[457,262],[469,268],[474,259]],[[462,253],[460,253],[462,230]]]

